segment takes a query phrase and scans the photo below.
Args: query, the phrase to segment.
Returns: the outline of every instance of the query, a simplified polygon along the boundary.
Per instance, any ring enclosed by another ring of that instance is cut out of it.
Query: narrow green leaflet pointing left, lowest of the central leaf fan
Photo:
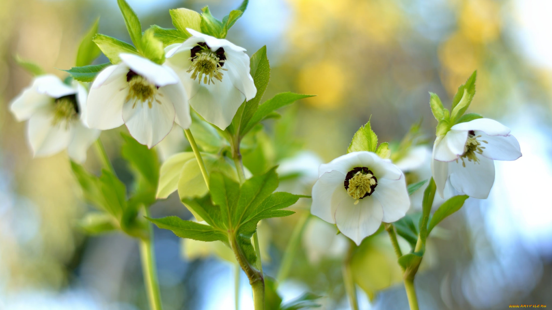
[[[215,229],[209,225],[200,224],[193,221],[185,221],[177,216],[167,216],[162,218],[147,217],[159,228],[169,229],[178,237],[189,238],[199,241],[216,241],[228,243],[228,237],[223,231]]]

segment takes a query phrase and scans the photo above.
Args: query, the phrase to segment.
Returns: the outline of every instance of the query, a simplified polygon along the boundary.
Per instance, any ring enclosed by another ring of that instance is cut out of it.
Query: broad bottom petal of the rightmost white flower
[[[479,163],[468,162],[463,167],[462,161],[450,162],[450,183],[468,196],[486,199],[495,182],[495,163],[492,159],[479,156]]]

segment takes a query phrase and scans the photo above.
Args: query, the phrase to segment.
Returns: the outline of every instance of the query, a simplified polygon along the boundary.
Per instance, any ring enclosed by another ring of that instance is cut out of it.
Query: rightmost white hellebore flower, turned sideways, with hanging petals
[[[456,190],[486,199],[495,181],[495,163],[521,157],[519,143],[508,127],[491,119],[476,119],[451,127],[433,144],[431,170],[439,195],[450,178]]]

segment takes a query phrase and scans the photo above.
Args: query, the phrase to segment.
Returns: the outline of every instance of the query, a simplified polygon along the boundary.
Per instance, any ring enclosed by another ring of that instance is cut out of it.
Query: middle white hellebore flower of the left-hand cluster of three
[[[88,95],[87,122],[107,130],[123,124],[138,142],[151,148],[171,132],[173,122],[192,122],[186,90],[166,65],[120,54],[121,62],[98,74]]]

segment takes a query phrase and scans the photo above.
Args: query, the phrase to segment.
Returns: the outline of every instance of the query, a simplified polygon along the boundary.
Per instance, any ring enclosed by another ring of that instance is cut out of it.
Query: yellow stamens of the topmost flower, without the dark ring
[[[203,79],[204,84],[215,83],[213,78],[222,81],[221,70],[227,71],[226,68],[222,68],[221,63],[225,60],[221,60],[215,52],[210,49],[201,49],[200,52],[189,58],[192,61],[192,65],[186,72],[192,72],[192,79],[199,77],[199,84]]]

